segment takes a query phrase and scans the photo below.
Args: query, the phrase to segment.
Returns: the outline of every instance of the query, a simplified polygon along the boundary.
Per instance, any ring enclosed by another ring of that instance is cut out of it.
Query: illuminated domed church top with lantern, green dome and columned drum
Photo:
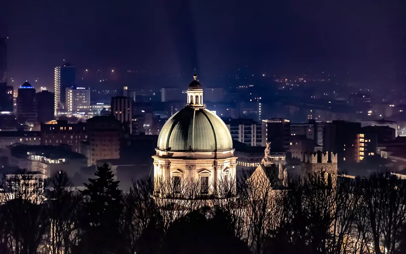
[[[154,159],[155,181],[199,183],[201,194],[210,194],[222,180],[235,181],[236,157],[225,123],[204,105],[197,77],[187,89],[187,105],[164,124]]]

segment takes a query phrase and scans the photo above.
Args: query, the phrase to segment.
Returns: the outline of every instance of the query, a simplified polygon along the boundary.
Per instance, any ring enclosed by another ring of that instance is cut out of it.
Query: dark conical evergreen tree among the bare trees
[[[85,198],[81,215],[83,253],[122,253],[121,213],[123,197],[119,181],[107,164],[97,167],[95,179],[89,179],[82,194]]]

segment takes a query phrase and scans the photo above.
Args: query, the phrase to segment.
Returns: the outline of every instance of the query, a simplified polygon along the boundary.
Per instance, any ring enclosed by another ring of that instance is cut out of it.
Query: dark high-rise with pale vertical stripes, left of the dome
[[[132,107],[128,97],[117,96],[111,99],[111,112],[122,123],[126,123],[129,133],[132,133]]]

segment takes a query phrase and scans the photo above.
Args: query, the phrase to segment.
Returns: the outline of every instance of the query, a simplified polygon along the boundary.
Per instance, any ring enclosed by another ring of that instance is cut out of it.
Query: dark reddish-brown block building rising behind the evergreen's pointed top
[[[80,152],[88,155],[88,164],[104,159],[120,157],[122,124],[114,116],[95,116],[86,121],[87,142],[81,144]],[[83,150],[82,150],[83,149]]]

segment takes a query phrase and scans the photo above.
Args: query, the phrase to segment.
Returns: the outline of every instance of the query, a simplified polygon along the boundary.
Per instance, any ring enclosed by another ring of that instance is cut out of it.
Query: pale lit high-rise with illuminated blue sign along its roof
[[[66,88],[66,111],[70,113],[90,111],[90,89],[71,86]]]

